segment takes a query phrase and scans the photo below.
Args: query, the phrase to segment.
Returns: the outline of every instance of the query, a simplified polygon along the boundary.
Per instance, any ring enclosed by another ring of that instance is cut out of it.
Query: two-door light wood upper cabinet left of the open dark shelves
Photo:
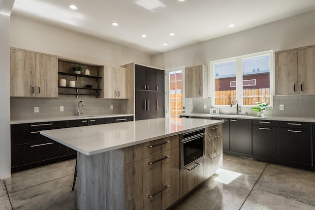
[[[11,97],[58,97],[57,57],[11,49]]]

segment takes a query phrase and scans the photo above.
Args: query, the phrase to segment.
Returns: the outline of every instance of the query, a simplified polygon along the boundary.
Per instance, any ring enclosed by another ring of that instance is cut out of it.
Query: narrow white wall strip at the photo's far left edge
[[[10,16],[0,13],[0,179],[11,177]]]

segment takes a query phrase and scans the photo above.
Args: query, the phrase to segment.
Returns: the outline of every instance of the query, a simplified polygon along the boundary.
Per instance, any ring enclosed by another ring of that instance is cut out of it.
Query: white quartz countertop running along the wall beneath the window
[[[182,117],[201,117],[201,118],[234,118],[234,119],[251,119],[251,120],[278,120],[278,121],[296,121],[296,122],[315,122],[315,118],[299,118],[299,117],[279,117],[279,116],[252,116],[252,115],[213,115],[190,113],[181,114]]]

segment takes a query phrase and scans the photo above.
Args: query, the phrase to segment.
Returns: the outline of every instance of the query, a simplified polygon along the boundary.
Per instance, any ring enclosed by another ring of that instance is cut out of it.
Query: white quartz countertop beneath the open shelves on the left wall
[[[25,119],[25,120],[11,120],[11,124],[33,123],[33,122],[47,122],[47,121],[63,121],[63,120],[82,120],[82,119],[97,119],[97,118],[114,118],[133,116],[133,114],[107,114],[107,115],[82,115],[70,117],[56,117],[56,118],[41,118],[41,119]]]

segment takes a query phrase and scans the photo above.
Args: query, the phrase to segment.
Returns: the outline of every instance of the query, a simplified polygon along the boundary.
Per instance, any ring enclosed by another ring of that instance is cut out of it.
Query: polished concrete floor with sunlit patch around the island
[[[0,210],[76,210],[74,166],[73,159],[0,180]],[[315,210],[315,172],[223,154],[218,174],[174,209]]]

